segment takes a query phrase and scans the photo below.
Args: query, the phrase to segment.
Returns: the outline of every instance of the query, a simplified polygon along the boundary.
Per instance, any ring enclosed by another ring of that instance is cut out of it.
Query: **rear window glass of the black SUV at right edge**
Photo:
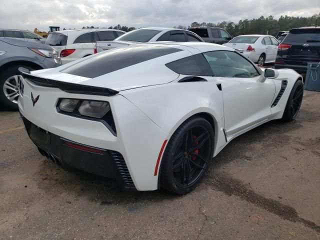
[[[320,42],[320,28],[295,28],[289,31],[285,41]]]

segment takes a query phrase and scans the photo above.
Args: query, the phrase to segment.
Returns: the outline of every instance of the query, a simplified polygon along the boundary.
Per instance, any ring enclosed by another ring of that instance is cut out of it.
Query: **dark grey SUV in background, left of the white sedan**
[[[217,44],[227,43],[233,38],[226,30],[220,27],[196,26],[188,28],[199,35],[204,41]]]

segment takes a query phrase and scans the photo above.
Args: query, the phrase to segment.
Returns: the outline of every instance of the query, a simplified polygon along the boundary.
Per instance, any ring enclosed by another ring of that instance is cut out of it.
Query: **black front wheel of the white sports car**
[[[285,109],[282,115],[282,120],[292,121],[299,112],[301,102],[303,98],[303,83],[300,79],[296,80],[291,92],[289,94],[288,100],[285,105]]]

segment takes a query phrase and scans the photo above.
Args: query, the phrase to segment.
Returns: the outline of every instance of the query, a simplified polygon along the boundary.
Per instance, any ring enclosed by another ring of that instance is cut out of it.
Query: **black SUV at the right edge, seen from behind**
[[[320,27],[293,28],[278,46],[274,68],[306,73],[307,62],[320,61]]]

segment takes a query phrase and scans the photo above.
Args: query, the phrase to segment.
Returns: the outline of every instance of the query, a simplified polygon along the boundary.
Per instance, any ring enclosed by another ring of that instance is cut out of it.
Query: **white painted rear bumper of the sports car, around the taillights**
[[[24,90],[18,99],[18,106],[20,113],[28,121],[56,135],[57,142],[63,138],[84,146],[107,150],[109,153],[121,153],[137,190],[158,188],[158,175],[154,176],[154,169],[159,149],[163,140],[167,139],[168,133],[156,125],[131,101],[120,94],[99,96],[68,93],[59,88],[36,85],[27,78],[22,79],[22,83]],[[33,96],[39,95],[35,105],[32,104],[31,93]],[[116,136],[101,121],[59,113],[56,105],[60,98],[108,101],[112,110]],[[45,145],[37,145],[56,153],[54,149],[48,149]],[[61,151],[57,156],[61,157],[64,162],[68,162],[69,156],[64,156],[64,153],[69,155],[68,152]],[[73,158],[72,154],[70,154],[70,160],[77,163],[76,155],[73,154]],[[95,163],[95,160],[89,161],[89,165]],[[97,163],[99,164],[99,161]],[[85,171],[100,174],[96,168],[90,170],[91,166],[82,167],[75,163],[72,164],[75,168],[85,168]],[[101,175],[109,174],[101,173]]]

